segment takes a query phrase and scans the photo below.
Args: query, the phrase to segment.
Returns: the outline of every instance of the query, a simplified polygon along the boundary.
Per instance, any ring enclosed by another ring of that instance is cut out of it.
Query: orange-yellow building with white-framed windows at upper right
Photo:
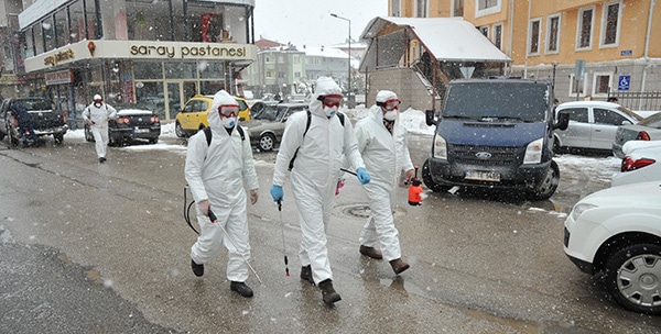
[[[551,80],[561,101],[617,96],[632,109],[661,109],[632,98],[661,90],[654,0],[389,0],[389,15],[463,16],[512,60],[506,75]]]

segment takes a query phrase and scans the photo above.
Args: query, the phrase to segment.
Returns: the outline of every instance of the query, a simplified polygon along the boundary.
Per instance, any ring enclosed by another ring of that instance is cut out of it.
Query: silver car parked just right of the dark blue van
[[[575,149],[613,149],[615,132],[620,125],[636,124],[642,120],[637,113],[617,103],[603,101],[575,101],[557,105],[556,114],[570,114],[567,130],[554,133],[555,152]]]

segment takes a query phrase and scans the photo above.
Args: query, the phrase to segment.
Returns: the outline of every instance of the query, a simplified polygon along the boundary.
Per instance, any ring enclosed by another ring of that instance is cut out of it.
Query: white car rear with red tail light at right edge
[[[622,152],[620,172],[613,176],[610,187],[661,180],[661,141],[629,141]]]

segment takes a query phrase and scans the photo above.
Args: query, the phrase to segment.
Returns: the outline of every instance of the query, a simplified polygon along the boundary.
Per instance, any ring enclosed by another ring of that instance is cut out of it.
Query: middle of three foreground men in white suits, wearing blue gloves
[[[332,78],[317,79],[314,99],[310,102],[310,123],[306,112],[294,113],[286,121],[271,187],[273,200],[282,201],[282,186],[290,162],[295,156],[291,183],[302,232],[299,252],[301,279],[316,283],[324,303],[328,305],[342,299],[333,288],[326,227],[342,175],[343,154],[355,168],[358,181],[362,185],[369,182],[351,122],[344,115],[342,119],[337,115],[343,98],[342,89]]]

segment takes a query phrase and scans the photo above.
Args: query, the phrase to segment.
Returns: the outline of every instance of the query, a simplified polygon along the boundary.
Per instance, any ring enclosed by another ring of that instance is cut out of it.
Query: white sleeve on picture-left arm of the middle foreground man
[[[303,132],[307,123],[307,113],[296,112],[292,114],[285,123],[280,149],[275,158],[275,168],[273,170],[273,185],[283,186],[286,180],[286,171],[289,163],[294,156],[294,153],[303,143]],[[347,122],[349,123],[349,122]]]

